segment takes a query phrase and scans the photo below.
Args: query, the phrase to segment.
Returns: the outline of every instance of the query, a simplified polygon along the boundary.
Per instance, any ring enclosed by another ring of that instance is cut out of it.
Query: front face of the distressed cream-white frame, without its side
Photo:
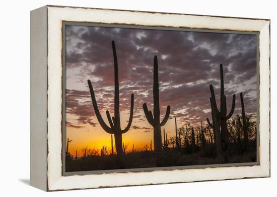
[[[270,21],[47,6],[47,190],[270,176]],[[62,21],[259,32],[259,165],[62,176]]]

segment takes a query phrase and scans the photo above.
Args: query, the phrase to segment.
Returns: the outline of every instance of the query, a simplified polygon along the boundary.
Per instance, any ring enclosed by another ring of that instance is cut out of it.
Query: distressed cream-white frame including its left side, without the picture
[[[65,172],[63,36],[66,24],[257,35],[257,162],[97,173]],[[55,191],[270,176],[270,20],[45,6],[31,11],[30,38],[32,186]]]

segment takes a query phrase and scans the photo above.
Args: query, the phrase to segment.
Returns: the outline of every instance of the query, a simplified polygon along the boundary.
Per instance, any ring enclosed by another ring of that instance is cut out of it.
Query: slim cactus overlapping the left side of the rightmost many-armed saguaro
[[[211,103],[211,109],[212,109],[213,123],[210,122],[209,118],[207,118],[207,123],[209,124],[209,126],[211,128],[213,128],[213,131],[214,131],[217,156],[221,156],[222,155],[222,146],[221,146],[220,122],[214,113],[215,105],[213,103],[212,97],[210,97],[210,103]]]

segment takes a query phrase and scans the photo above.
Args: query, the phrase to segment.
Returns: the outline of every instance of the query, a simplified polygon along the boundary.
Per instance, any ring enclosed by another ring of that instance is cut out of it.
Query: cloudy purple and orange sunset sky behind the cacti
[[[98,108],[113,115],[114,65],[111,41],[116,44],[120,91],[121,127],[129,117],[130,96],[134,94],[132,126],[123,142],[141,148],[153,141],[153,128],[142,105],[153,110],[153,58],[158,56],[161,119],[170,105],[165,128],[168,138],[178,127],[211,119],[210,89],[219,98],[219,65],[223,64],[227,110],[236,94],[235,113],[241,113],[239,93],[244,93],[246,113],[256,116],[256,35],[66,26],[66,137],[69,151],[81,155],[86,146],[110,148],[110,134],[96,119],[87,80],[95,91]],[[219,102],[219,101],[218,101]],[[218,103],[219,105],[219,103]],[[109,125],[109,124],[108,124]]]

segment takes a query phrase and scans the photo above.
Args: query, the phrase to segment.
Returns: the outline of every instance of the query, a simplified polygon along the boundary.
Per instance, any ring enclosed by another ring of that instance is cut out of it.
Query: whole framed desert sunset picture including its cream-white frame
[[[270,176],[270,20],[31,11],[31,185]]]

